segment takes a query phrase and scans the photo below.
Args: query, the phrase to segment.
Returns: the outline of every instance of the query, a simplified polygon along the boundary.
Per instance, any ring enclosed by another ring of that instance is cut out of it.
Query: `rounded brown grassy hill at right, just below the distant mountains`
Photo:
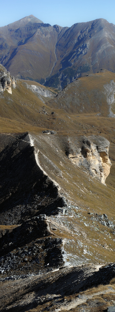
[[[115,74],[103,70],[67,85],[49,105],[57,109],[63,108],[69,113],[98,113],[101,116],[113,117],[114,94]]]

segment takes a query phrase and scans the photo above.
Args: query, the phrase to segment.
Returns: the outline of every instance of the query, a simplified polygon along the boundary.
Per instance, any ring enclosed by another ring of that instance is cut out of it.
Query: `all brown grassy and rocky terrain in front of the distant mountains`
[[[57,93],[0,66],[0,310],[112,312],[115,74]]]

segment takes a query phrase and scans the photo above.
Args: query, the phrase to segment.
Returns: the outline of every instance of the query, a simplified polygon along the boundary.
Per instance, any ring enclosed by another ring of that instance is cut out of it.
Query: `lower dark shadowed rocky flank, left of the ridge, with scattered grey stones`
[[[33,217],[21,225],[0,230],[0,274],[37,272],[62,266],[62,239],[51,237],[47,218]]]

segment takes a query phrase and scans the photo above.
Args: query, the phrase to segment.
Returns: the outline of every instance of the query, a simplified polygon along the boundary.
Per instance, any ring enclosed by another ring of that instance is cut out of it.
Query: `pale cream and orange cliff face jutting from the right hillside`
[[[68,139],[66,155],[75,165],[83,166],[105,184],[112,165],[108,157],[109,145],[109,141],[100,136],[80,136],[75,142]]]

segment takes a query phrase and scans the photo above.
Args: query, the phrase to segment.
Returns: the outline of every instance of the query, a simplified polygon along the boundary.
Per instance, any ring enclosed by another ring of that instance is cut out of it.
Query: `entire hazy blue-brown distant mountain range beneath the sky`
[[[26,16],[0,27],[0,63],[15,78],[62,90],[101,68],[115,72],[115,25],[96,19],[60,27]]]

